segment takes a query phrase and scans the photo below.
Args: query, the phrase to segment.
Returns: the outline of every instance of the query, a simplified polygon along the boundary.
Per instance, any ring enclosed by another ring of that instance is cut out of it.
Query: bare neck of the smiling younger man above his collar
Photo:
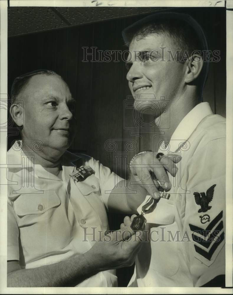
[[[198,97],[191,94],[183,94],[178,99],[171,101],[170,108],[166,113],[160,115],[160,131],[165,133],[163,140],[170,140],[176,128],[183,118],[198,104]],[[168,114],[170,116],[169,128],[163,128],[168,123]]]

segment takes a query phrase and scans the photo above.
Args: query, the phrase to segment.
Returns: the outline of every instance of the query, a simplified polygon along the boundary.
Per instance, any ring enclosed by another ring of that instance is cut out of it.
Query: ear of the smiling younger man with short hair
[[[191,83],[201,73],[201,69],[203,67],[203,59],[201,55],[194,54],[192,55],[190,60],[186,61],[186,63],[187,63],[187,68],[186,68],[185,82]]]

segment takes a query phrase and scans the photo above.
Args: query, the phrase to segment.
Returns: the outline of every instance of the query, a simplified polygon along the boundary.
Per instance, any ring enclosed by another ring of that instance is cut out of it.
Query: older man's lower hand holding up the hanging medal
[[[93,259],[98,258],[101,270],[131,266],[134,263],[141,241],[145,238],[144,232],[134,232],[130,228],[135,216],[132,215],[131,219],[126,216],[120,230],[106,234],[102,241],[96,242],[91,248]]]

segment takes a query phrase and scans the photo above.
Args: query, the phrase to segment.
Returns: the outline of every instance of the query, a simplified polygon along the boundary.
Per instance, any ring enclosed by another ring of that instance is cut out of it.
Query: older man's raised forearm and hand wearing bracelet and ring
[[[122,180],[109,195],[109,212],[137,213],[137,208],[148,194],[159,199],[159,191],[170,190],[168,173],[176,175],[178,168],[175,164],[181,160],[181,155],[163,155],[159,160],[156,155],[146,152],[134,158],[129,180]]]

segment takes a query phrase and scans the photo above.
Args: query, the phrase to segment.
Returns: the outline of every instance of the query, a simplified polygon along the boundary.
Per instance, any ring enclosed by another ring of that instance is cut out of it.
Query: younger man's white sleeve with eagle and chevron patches
[[[225,138],[196,150],[188,163],[185,228],[194,286],[225,274]]]

